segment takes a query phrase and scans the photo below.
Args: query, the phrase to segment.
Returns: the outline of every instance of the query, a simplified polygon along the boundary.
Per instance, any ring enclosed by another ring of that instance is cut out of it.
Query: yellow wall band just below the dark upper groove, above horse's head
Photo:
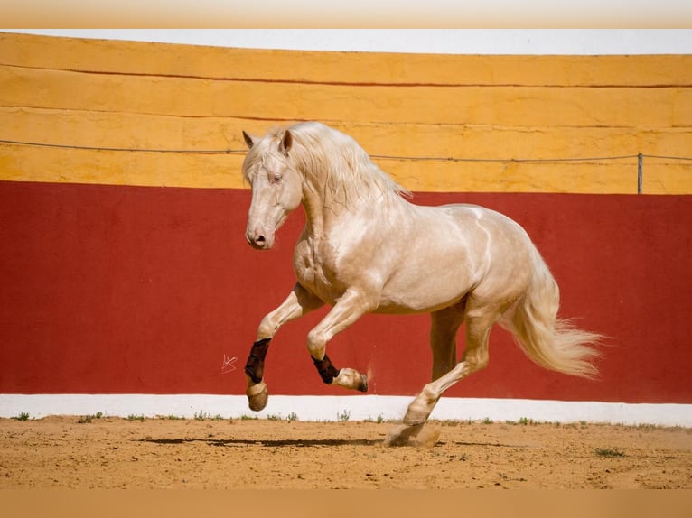
[[[692,88],[403,88],[93,75],[0,67],[5,106],[284,120],[692,126]],[[76,95],[79,93],[79,95]]]

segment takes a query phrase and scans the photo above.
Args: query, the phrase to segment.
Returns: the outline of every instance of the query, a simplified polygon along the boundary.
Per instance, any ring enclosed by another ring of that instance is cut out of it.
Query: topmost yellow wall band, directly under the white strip
[[[692,85],[692,56],[488,56],[228,49],[0,32],[0,63],[115,74],[351,85]]]

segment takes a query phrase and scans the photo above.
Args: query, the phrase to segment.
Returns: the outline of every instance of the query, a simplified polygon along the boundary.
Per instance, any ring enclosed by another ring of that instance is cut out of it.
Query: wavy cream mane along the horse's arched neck
[[[380,170],[351,136],[318,122],[275,129],[268,136],[278,144],[286,130],[293,136],[287,160],[294,163],[296,170],[312,175],[323,185],[324,195],[332,202],[349,205],[358,199],[388,198],[390,194],[411,196]]]

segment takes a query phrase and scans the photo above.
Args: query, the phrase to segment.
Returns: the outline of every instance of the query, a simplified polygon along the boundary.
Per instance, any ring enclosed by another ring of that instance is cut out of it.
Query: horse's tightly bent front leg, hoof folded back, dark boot
[[[337,369],[326,354],[326,346],[334,335],[348,328],[363,314],[373,309],[372,302],[362,291],[351,288],[344,293],[327,316],[308,333],[307,348],[325,384],[336,384],[360,392],[368,391],[366,375],[351,368]]]

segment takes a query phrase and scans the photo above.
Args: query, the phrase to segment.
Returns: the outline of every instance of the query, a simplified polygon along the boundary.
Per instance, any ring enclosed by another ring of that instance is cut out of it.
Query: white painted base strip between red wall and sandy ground
[[[409,396],[271,395],[262,412],[251,412],[240,395],[209,394],[0,394],[0,417],[28,413],[40,419],[48,415],[131,415],[156,417],[195,415],[239,419],[253,416],[287,419],[292,414],[300,421],[399,420],[404,416]],[[540,422],[605,422],[613,424],[655,424],[692,427],[692,404],[653,404],[623,402],[562,402],[525,399],[443,398],[430,416],[434,420]]]

